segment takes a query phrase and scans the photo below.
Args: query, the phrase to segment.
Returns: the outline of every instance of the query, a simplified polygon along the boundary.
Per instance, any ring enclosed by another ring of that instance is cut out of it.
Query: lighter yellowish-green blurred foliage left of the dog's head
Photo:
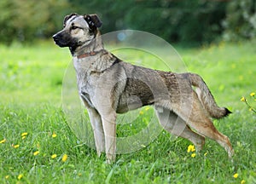
[[[61,15],[67,14],[67,7],[67,0],[2,0],[0,2],[1,43],[49,37],[61,27],[63,19]]]

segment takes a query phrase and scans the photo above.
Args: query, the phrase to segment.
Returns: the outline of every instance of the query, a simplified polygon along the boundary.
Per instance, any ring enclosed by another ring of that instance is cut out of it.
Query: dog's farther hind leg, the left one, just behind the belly
[[[197,151],[201,151],[205,144],[204,136],[196,134],[182,118],[178,117],[176,113],[171,112],[169,109],[157,107],[155,108],[155,112],[164,129],[172,135],[188,139],[195,145]]]

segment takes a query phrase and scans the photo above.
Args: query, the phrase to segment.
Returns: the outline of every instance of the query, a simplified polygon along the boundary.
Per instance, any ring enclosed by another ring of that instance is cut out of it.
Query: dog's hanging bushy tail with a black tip
[[[201,105],[212,118],[223,118],[231,113],[229,109],[217,105],[207,84],[199,75],[189,73],[189,78],[192,86],[195,87],[195,92],[201,101]]]

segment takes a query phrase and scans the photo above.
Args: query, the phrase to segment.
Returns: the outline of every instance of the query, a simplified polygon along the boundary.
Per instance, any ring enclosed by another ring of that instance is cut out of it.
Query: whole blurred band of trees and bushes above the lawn
[[[32,42],[61,29],[66,14],[98,14],[102,32],[135,29],[172,43],[237,41],[256,35],[255,0],[1,0],[0,42]]]

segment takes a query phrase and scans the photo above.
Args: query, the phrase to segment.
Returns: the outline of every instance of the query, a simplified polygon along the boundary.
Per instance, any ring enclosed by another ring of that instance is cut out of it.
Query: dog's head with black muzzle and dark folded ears
[[[88,45],[96,37],[102,21],[96,14],[68,14],[64,18],[63,29],[53,39],[60,47],[75,50],[79,46]]]

